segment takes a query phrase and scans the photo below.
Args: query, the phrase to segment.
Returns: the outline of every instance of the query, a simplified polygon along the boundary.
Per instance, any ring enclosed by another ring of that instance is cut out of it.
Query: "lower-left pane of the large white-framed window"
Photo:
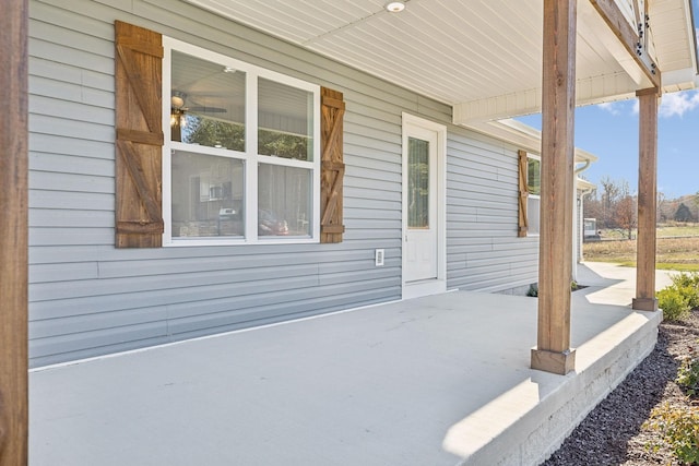
[[[242,236],[242,160],[173,152],[173,237]]]

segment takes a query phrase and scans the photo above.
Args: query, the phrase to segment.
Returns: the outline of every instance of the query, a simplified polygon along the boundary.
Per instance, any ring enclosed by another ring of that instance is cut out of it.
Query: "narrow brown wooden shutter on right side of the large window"
[[[343,117],[342,93],[320,89],[321,175],[320,175],[320,242],[342,242]]]

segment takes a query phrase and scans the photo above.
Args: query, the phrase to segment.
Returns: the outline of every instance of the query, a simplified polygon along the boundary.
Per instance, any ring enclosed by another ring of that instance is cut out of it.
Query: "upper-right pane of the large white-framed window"
[[[258,153],[312,160],[313,94],[260,79]]]

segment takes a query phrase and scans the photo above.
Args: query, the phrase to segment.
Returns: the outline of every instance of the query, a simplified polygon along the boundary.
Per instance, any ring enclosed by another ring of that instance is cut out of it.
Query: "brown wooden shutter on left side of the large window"
[[[163,244],[163,38],[115,22],[116,246]]]

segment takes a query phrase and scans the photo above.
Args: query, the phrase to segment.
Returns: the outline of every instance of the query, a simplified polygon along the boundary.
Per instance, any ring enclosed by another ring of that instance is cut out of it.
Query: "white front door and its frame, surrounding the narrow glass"
[[[407,235],[407,139],[411,134],[411,128],[420,128],[437,133],[437,166],[433,167],[437,170],[437,187],[430,189],[430,194],[437,196],[437,278],[406,282],[405,274],[401,273],[402,296],[403,299],[416,298],[419,296],[436,295],[447,290],[447,127],[414,115],[402,113],[402,235],[401,235],[401,255],[403,260],[402,270],[407,267],[407,254],[405,253],[405,238]]]

